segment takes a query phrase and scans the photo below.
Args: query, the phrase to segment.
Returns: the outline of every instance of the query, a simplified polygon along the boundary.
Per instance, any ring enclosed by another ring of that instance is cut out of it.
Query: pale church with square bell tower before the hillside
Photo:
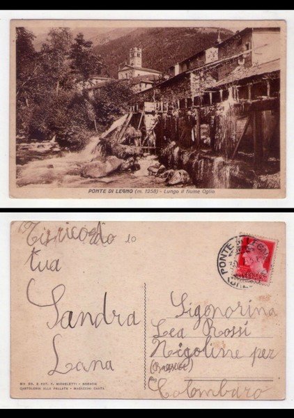
[[[118,68],[118,79],[132,79],[141,75],[153,75],[154,79],[157,79],[162,73],[150,68],[142,68],[142,49],[130,48],[130,64],[124,63]]]

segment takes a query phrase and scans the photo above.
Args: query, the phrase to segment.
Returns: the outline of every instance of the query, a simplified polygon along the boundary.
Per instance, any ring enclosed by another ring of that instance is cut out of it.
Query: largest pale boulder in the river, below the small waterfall
[[[100,178],[109,176],[109,174],[120,170],[126,166],[126,162],[120,160],[118,157],[111,155],[110,157],[100,158],[92,162],[88,162],[81,171],[82,177]]]

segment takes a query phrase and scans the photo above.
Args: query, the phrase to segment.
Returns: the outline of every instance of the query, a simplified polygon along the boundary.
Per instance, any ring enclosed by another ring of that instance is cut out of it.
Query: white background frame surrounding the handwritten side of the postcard
[[[285,401],[124,401],[107,399],[11,399],[9,396],[9,351],[10,351],[10,222],[13,220],[67,220],[67,221],[240,221],[261,222],[278,221],[286,222],[286,254],[287,257],[287,357],[286,357],[286,400]],[[294,362],[291,361],[294,344],[294,309],[293,294],[294,271],[293,242],[294,242],[294,217],[292,213],[1,213],[0,215],[0,408],[293,408],[294,407]]]

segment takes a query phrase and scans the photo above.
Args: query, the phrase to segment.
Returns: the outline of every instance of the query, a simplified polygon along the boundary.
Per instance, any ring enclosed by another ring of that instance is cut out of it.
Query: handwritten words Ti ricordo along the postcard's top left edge
[[[66,222],[68,224],[68,222]],[[102,230],[103,229],[103,230]],[[46,228],[42,222],[22,222],[19,233],[26,235],[26,243],[30,247],[33,245],[44,245],[47,247],[49,244],[56,244],[66,240],[76,240],[78,242],[87,242],[90,245],[104,246],[111,245],[116,235],[112,233],[104,233],[105,223],[98,222],[97,226],[93,229],[87,229],[86,226],[66,226],[51,231]]]

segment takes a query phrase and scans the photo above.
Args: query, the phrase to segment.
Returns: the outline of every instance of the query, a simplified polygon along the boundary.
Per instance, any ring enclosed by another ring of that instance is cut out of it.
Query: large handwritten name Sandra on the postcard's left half
[[[61,327],[63,330],[67,328],[83,327],[85,324],[91,325],[95,328],[100,327],[100,325],[112,325],[114,323],[118,324],[120,327],[127,326],[137,326],[141,321],[137,320],[135,311],[132,311],[130,314],[123,316],[118,314],[115,309],[107,307],[107,292],[105,292],[103,300],[102,311],[91,314],[90,312],[81,311],[79,314],[75,314],[73,311],[64,311],[62,314],[59,312],[59,302],[63,299],[65,295],[65,286],[64,284],[59,284],[55,286],[51,291],[52,300],[49,303],[41,304],[33,300],[31,296],[31,287],[35,284],[35,279],[31,279],[26,288],[26,298],[29,303],[35,305],[36,307],[54,308],[55,319],[52,323],[47,322],[47,327],[52,330],[55,327]]]

